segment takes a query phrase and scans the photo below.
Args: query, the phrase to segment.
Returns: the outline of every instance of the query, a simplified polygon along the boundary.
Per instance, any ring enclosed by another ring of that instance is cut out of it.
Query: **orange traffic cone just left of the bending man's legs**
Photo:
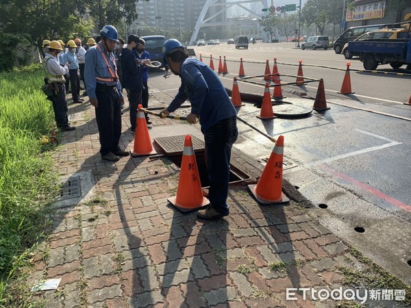
[[[177,196],[167,199],[182,213],[195,211],[208,205],[210,201],[203,196],[199,170],[192,149],[191,136],[187,135],[184,140],[184,151],[182,156],[181,172],[178,180]]]

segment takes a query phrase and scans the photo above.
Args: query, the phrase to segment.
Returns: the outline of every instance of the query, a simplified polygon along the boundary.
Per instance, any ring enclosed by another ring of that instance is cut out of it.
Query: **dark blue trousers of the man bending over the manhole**
[[[212,207],[220,214],[229,214],[227,205],[229,160],[238,130],[236,116],[221,120],[204,133],[206,164],[210,179],[209,196]]]

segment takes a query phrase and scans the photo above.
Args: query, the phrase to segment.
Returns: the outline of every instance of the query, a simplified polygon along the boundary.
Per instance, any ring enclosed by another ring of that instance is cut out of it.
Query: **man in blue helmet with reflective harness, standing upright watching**
[[[112,25],[100,31],[101,41],[86,53],[84,79],[90,103],[95,107],[101,158],[116,162],[129,153],[119,147],[123,94],[117,75],[114,48],[119,35]]]

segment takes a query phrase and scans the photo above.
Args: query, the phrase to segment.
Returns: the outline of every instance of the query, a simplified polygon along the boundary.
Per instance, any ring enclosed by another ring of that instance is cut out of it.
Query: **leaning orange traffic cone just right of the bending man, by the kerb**
[[[257,185],[248,186],[258,203],[262,205],[290,202],[282,192],[283,154],[284,137],[279,136]]]

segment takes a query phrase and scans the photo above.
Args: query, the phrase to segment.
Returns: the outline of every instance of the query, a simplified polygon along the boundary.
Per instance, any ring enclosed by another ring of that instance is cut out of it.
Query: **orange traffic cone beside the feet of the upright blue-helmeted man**
[[[156,153],[153,150],[153,144],[151,143],[146,118],[144,112],[140,110],[141,108],[142,105],[138,104],[136,133],[134,135],[134,149],[132,157],[145,156]]]

